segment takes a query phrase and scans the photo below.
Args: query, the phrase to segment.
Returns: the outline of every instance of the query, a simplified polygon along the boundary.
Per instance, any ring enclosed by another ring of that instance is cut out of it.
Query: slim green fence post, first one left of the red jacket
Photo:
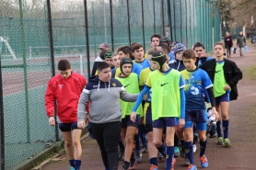
[[[27,121],[27,142],[30,142],[30,125],[29,125],[29,90],[28,90],[28,75],[27,75],[27,62],[26,62],[26,40],[24,32],[24,20],[22,0],[18,0],[20,28],[21,28],[21,40],[22,40],[22,62],[24,71],[24,90],[25,90],[25,108],[26,108],[26,121]]]

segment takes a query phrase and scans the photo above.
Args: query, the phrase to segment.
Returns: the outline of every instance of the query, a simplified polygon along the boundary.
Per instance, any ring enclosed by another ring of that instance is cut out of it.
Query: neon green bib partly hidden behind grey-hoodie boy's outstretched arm
[[[122,84],[122,86],[125,88],[125,90],[130,94],[139,94],[139,79],[138,75],[131,73],[128,77],[116,77],[117,80],[119,80]],[[122,109],[122,119],[126,115],[131,115],[134,107],[134,102],[125,102],[120,100],[121,109]],[[143,116],[143,109],[142,105],[139,106],[137,109],[137,114]]]

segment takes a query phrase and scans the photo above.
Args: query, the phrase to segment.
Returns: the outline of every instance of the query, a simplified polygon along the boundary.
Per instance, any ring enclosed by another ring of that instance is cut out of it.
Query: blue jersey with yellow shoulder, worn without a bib
[[[204,90],[213,86],[210,77],[200,68],[180,73],[185,83],[186,110],[204,110]]]

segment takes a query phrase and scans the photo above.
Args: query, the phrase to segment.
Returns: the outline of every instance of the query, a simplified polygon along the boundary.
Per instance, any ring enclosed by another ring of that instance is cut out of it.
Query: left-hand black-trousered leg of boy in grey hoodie
[[[105,168],[110,168],[108,153],[106,152],[105,145],[104,145],[104,136],[103,136],[104,128],[105,128],[105,124],[91,123],[92,133],[94,135],[95,140],[99,144],[99,150],[101,153],[103,164]]]

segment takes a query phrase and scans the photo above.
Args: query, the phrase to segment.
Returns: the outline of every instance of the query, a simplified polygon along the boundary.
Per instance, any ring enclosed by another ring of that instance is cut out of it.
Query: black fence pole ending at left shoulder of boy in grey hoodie
[[[85,7],[85,24],[86,24],[86,37],[87,37],[87,74],[90,76],[90,60],[89,60],[89,33],[88,33],[88,14],[87,14],[87,0],[84,0]]]

